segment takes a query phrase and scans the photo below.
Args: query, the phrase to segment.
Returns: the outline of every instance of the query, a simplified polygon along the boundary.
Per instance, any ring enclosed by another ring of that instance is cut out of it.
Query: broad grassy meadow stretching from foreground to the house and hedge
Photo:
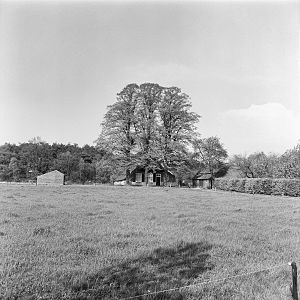
[[[1,299],[291,299],[300,199],[2,184],[0,247]]]

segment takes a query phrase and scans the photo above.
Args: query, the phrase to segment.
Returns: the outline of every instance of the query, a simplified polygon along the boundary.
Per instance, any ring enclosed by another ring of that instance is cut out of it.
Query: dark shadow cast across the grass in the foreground
[[[74,285],[72,299],[115,299],[181,287],[214,266],[206,242],[181,242],[172,248],[157,248],[150,255],[105,268]],[[136,299],[142,299],[137,297]],[[180,292],[159,293],[147,299],[183,299]]]

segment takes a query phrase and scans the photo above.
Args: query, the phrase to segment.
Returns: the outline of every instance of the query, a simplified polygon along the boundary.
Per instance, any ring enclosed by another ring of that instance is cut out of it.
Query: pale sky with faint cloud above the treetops
[[[300,142],[299,2],[1,1],[0,145],[93,145],[129,83],[177,86],[230,155]]]

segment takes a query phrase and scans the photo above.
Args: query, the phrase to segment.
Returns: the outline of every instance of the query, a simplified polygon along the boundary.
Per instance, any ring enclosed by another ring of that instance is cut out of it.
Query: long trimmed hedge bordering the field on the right
[[[216,178],[215,187],[250,194],[300,196],[299,179]]]

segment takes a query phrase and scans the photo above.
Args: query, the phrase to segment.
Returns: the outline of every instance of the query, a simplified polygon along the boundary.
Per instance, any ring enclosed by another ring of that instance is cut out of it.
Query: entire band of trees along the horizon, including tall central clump
[[[52,145],[41,138],[19,145],[0,146],[0,180],[35,180],[52,170],[74,183],[111,183],[120,175],[144,168],[172,171],[179,182],[190,181],[199,171],[220,177],[300,178],[300,145],[283,155],[234,155],[218,137],[202,138],[200,116],[192,111],[190,97],[178,87],[132,83],[107,107],[95,146]],[[230,174],[229,174],[230,175]]]

